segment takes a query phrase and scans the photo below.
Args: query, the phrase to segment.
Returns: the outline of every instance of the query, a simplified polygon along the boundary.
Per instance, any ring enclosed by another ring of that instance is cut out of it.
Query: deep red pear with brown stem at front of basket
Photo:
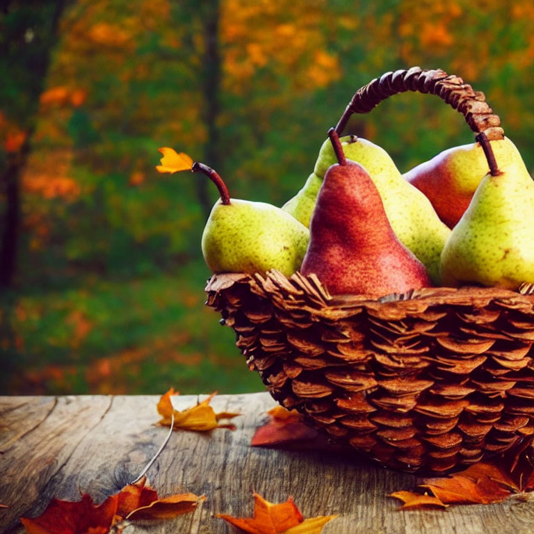
[[[318,191],[302,274],[314,273],[334,295],[377,298],[430,286],[421,261],[391,229],[369,173],[345,158],[334,129],[329,136],[339,163]]]

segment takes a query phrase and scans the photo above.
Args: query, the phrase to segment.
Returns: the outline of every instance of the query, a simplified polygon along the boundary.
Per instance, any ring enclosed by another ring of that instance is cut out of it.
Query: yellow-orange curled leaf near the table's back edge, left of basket
[[[235,430],[236,427],[232,424],[220,424],[220,419],[232,419],[241,414],[234,414],[232,412],[220,412],[216,414],[213,408],[209,405],[211,399],[216,396],[216,392],[212,393],[208,398],[204,399],[202,403],[198,403],[196,406],[187,408],[186,410],[175,410],[172,406],[170,397],[177,395],[173,388],[169,389],[159,399],[158,412],[163,417],[159,421],[160,425],[170,426],[172,421],[172,415],[174,414],[174,424],[172,428],[178,430],[195,430],[197,432],[207,432],[214,428],[229,428]]]

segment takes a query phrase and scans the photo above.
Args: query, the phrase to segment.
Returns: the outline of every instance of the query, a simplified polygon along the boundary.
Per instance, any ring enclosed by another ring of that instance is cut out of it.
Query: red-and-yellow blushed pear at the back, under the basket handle
[[[510,139],[490,143],[501,165],[521,161],[521,154]],[[471,143],[444,150],[403,177],[426,195],[439,218],[453,228],[469,206],[486,172],[487,161],[480,143]]]

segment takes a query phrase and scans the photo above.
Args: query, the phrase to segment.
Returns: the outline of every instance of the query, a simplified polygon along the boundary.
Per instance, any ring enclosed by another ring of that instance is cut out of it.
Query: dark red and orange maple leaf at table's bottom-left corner
[[[192,493],[171,495],[159,499],[146,478],[123,487],[102,504],[95,505],[91,497],[82,494],[81,501],[53,499],[40,517],[20,520],[28,534],[106,534],[111,527],[119,528],[124,519],[168,519],[192,512],[204,496]]]

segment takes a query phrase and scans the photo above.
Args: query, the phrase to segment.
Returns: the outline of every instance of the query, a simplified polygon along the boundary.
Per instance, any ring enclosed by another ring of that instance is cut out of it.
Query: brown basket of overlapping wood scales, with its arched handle
[[[481,93],[418,67],[360,89],[338,131],[350,113],[406,90],[437,94],[476,133],[503,137]],[[278,402],[387,467],[442,474],[534,435],[531,285],[366,300],[270,271],[213,275],[206,291]]]

